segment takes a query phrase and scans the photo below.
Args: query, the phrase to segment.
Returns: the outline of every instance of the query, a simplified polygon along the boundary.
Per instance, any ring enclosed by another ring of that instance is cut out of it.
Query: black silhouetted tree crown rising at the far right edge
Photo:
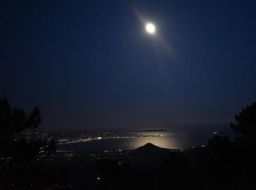
[[[256,102],[242,109],[239,115],[234,118],[237,124],[230,123],[230,128],[236,134],[241,134],[242,138],[249,143],[256,143]],[[237,138],[237,140],[241,138]]]

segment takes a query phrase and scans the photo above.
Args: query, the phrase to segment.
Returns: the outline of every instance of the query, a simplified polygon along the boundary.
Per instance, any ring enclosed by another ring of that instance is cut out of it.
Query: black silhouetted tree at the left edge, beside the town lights
[[[9,157],[10,161],[16,163],[29,163],[42,147],[47,147],[49,153],[54,152],[56,145],[53,140],[47,144],[25,138],[14,139],[15,133],[37,128],[40,122],[40,109],[37,106],[27,115],[23,109],[11,109],[7,98],[0,99],[0,156]]]

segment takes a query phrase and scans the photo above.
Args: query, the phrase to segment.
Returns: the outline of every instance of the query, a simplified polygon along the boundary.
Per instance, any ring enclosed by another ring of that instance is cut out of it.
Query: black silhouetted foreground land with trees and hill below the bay
[[[27,115],[0,99],[0,189],[256,189],[256,103],[235,118],[234,141],[217,135],[208,146],[186,150],[146,144],[109,157],[66,157],[53,140],[15,139],[38,127],[40,110]]]

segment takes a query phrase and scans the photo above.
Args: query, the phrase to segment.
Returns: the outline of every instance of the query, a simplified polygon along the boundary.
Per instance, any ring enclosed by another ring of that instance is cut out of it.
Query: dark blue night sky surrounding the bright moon
[[[0,3],[0,96],[40,106],[40,129],[228,125],[256,101],[255,1],[17,2]]]

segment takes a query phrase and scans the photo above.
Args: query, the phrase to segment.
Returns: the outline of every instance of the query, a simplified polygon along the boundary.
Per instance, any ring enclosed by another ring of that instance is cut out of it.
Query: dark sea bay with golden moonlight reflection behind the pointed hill
[[[116,132],[116,135],[137,137],[120,139],[99,139],[89,142],[78,142],[58,145],[57,149],[62,151],[117,151],[134,150],[146,143],[169,149],[185,149],[207,145],[209,139],[214,137],[215,131],[126,131]],[[219,133],[219,135],[232,136],[231,131]],[[141,136],[141,137],[138,137]]]

